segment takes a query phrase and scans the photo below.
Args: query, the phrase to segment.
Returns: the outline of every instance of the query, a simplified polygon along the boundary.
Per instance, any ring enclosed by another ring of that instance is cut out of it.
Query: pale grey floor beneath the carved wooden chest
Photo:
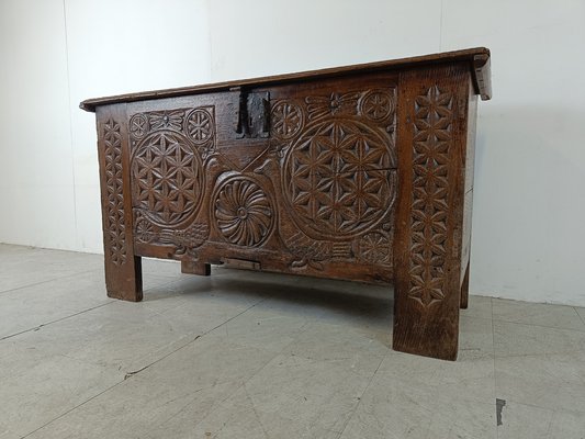
[[[585,308],[472,296],[446,362],[389,348],[386,289],[143,266],[125,303],[0,245],[0,439],[585,438]]]

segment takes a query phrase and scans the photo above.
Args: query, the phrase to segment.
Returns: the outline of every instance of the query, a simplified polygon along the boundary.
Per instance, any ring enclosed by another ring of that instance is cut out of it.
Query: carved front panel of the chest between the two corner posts
[[[235,135],[237,92],[131,108],[137,252],[390,282],[396,87],[330,82],[262,90],[266,138]]]

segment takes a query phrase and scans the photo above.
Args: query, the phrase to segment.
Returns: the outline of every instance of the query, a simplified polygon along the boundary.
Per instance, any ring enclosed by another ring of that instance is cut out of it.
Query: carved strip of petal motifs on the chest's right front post
[[[452,105],[437,86],[415,100],[408,296],[424,306],[445,299]]]

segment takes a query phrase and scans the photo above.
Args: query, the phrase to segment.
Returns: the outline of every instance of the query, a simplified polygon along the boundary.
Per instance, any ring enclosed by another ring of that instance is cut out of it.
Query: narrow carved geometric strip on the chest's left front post
[[[110,259],[121,266],[126,261],[126,234],[124,226],[124,194],[122,191],[122,135],[120,124],[112,119],[103,124],[106,233]]]

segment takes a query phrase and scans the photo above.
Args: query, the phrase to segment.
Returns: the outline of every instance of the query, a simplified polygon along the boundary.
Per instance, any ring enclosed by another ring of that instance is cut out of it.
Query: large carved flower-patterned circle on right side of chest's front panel
[[[297,226],[348,239],[387,212],[395,195],[390,140],[352,119],[308,127],[285,157],[283,193]]]

